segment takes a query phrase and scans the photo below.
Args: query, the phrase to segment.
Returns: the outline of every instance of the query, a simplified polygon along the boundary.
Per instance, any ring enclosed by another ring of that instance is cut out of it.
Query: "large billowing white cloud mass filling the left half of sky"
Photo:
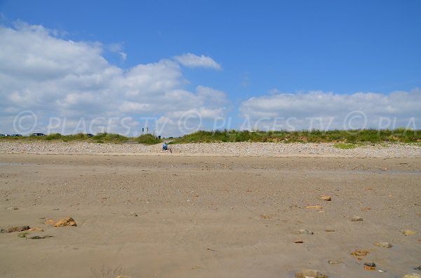
[[[57,34],[22,22],[0,26],[1,133],[106,131],[136,136],[141,127],[152,130],[160,124],[162,135],[180,135],[180,117],[189,113],[205,120],[225,116],[225,92],[202,85],[194,92],[183,88],[180,64],[220,67],[210,57],[189,54],[190,62],[162,59],[123,69],[102,55],[106,48],[126,59],[121,45],[70,41]],[[205,124],[201,120],[200,127]]]

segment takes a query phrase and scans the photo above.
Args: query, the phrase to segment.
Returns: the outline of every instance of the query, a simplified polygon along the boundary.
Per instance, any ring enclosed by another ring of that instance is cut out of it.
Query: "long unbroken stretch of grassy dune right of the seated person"
[[[415,143],[421,141],[421,130],[302,130],[302,131],[198,131],[175,139],[171,144],[205,142],[282,142],[282,143]]]

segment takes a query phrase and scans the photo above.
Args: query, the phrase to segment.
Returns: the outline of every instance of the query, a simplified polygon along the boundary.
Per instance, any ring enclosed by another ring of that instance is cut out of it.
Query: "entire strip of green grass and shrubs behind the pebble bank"
[[[152,134],[130,138],[120,134],[99,133],[95,136],[88,134],[62,135],[59,133],[47,136],[0,137],[0,140],[24,141],[86,141],[92,143],[121,144],[126,141],[137,141],[140,144],[159,144]],[[421,144],[421,130],[301,130],[301,131],[256,131],[247,130],[217,130],[198,131],[175,138],[171,144],[212,143],[212,142],[274,142],[274,143],[334,143],[337,148],[354,148],[363,144],[410,143]]]

